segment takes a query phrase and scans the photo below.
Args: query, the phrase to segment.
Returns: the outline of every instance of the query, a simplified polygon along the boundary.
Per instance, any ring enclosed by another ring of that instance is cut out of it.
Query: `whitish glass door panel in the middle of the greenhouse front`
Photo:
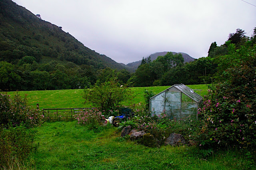
[[[180,118],[182,92],[166,91],[165,110],[175,118]]]

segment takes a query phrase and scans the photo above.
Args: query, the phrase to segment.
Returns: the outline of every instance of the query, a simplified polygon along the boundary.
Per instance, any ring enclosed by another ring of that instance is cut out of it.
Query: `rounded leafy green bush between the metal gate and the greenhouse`
[[[131,90],[117,82],[116,78],[100,83],[99,81],[90,89],[84,89],[82,94],[85,102],[92,103],[94,107],[99,107],[102,112],[117,110],[120,102],[131,98]]]

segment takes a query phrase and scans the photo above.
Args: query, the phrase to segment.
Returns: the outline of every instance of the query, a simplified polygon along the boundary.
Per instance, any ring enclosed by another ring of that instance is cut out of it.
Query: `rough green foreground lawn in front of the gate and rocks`
[[[118,138],[115,130],[94,132],[76,121],[46,122],[38,128],[39,147],[31,162],[38,170],[242,170],[250,166],[248,156],[232,148],[205,158],[195,147],[148,148]]]

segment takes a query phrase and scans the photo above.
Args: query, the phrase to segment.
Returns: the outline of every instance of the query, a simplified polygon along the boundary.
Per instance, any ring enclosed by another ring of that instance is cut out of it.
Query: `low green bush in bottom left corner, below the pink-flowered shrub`
[[[36,130],[20,125],[0,130],[0,167],[10,168],[13,161],[25,160],[36,149],[34,136]],[[14,159],[15,158],[15,159]]]

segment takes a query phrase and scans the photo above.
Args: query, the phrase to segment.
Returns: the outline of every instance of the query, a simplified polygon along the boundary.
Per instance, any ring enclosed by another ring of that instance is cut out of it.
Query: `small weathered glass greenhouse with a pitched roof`
[[[151,116],[167,116],[184,119],[198,118],[198,108],[202,96],[184,84],[174,84],[170,88],[150,98]]]

